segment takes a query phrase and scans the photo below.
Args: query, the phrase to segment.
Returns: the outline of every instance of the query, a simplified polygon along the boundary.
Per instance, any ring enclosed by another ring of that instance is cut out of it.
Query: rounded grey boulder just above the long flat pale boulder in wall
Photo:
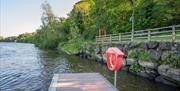
[[[149,51],[149,55],[150,57],[153,59],[153,60],[160,60],[161,58],[161,53],[156,51],[156,50],[153,50],[153,49],[150,49]]]

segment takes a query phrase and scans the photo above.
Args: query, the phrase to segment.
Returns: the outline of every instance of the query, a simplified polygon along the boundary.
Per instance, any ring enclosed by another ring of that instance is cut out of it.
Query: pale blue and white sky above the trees
[[[47,0],[53,13],[67,17],[79,0]],[[17,36],[34,32],[41,23],[41,4],[44,0],[0,0],[0,36]]]

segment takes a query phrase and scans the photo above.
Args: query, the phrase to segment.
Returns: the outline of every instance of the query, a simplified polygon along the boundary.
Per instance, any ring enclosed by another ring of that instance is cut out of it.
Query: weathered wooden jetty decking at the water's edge
[[[99,73],[55,74],[49,91],[118,91]]]

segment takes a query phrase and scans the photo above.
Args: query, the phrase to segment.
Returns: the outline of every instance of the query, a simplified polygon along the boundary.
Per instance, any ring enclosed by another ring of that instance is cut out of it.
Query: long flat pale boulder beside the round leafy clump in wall
[[[139,65],[141,65],[142,67],[145,67],[145,68],[157,69],[157,67],[158,67],[157,63],[151,62],[151,61],[139,61],[138,63],[139,63]]]

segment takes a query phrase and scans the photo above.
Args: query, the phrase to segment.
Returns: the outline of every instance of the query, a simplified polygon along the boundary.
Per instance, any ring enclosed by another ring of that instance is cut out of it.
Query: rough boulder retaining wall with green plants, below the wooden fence
[[[128,44],[87,45],[80,54],[106,63],[105,51],[118,47],[125,53],[124,69],[156,82],[180,87],[180,42],[142,42]]]

